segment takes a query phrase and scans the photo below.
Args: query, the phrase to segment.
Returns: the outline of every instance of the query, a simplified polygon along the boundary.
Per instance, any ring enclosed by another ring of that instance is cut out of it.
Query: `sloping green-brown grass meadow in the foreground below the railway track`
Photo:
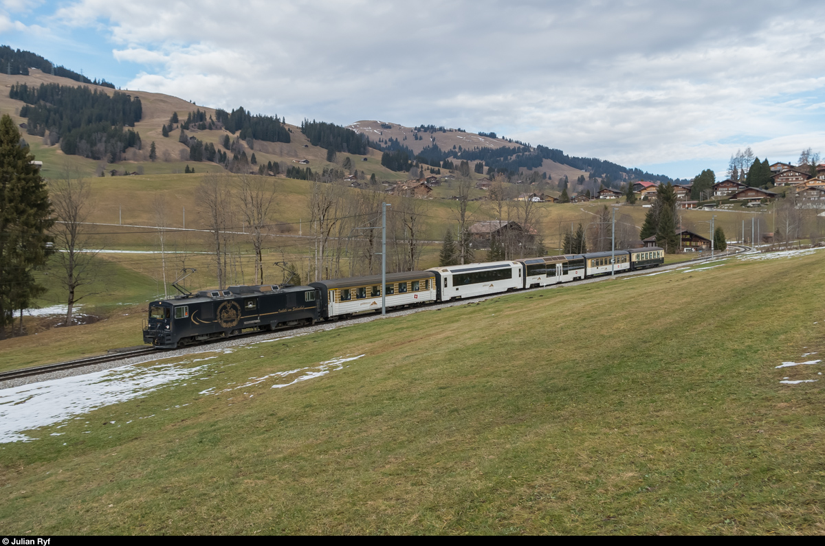
[[[2,445],[0,524],[9,534],[822,533],[823,366],[775,368],[825,351],[825,252],[809,254],[177,359],[186,379]],[[319,364],[347,355],[363,356]]]

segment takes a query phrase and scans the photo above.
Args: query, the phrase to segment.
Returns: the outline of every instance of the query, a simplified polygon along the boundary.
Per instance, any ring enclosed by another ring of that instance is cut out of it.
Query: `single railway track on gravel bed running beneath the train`
[[[727,252],[727,253],[721,253],[720,252],[719,254],[717,254],[714,257],[714,259],[719,260],[719,259],[724,258],[724,257],[732,257],[732,256],[736,256],[737,254],[742,254],[742,252],[747,252],[747,251],[751,250],[750,247],[745,247],[745,246],[742,246],[742,245],[729,245],[729,247],[731,249],[736,249],[736,250],[734,252]],[[707,261],[709,259],[710,259],[710,257],[693,258],[691,260],[676,262],[675,264],[670,264],[670,265],[665,266],[665,267],[670,269],[670,268],[677,267],[677,266],[680,266],[680,265],[696,263],[698,261]],[[622,271],[621,273],[617,273],[616,276],[634,275],[634,274],[638,274],[638,273],[639,273],[639,271]],[[592,278],[592,279],[588,279],[588,280],[580,280],[580,281],[576,281],[574,283],[569,283],[569,285],[577,285],[577,284],[584,283],[584,282],[593,282],[593,281],[606,280],[606,279],[610,279],[610,276],[608,275],[608,276],[596,277],[596,278]],[[551,286],[555,286],[555,285],[551,285]],[[527,289],[525,291],[532,291],[532,290],[535,290],[535,289]],[[507,295],[507,294],[510,294],[510,293],[502,293],[502,294],[494,294],[494,295]],[[463,299],[463,300],[460,300],[460,301],[451,302],[450,304],[461,304],[461,302],[469,302],[469,301],[472,301],[474,299],[479,299],[479,298],[487,299],[489,297],[490,296],[486,296],[486,295],[485,296],[479,296],[478,298]],[[427,309],[427,307],[422,308],[422,310],[424,310],[424,309]],[[397,309],[397,310],[394,310],[394,311],[389,311],[388,310],[387,314],[391,315],[391,314],[394,314],[394,313],[401,313],[404,310],[405,309]],[[364,315],[363,317],[365,318],[365,317],[368,317],[368,316],[369,315]],[[323,326],[323,324],[318,324],[317,326],[321,327],[321,326]],[[288,329],[288,328],[284,328],[284,330],[286,330],[286,329]],[[273,333],[273,332],[249,332],[249,333],[245,333],[245,334],[243,334],[241,336],[238,336],[238,337],[233,337],[231,339],[238,339],[238,338],[243,338],[243,337],[256,337],[256,336],[262,336],[262,335],[271,334],[271,333]],[[227,339],[221,338],[219,340],[214,340],[214,342],[222,342],[222,341],[227,341]],[[207,344],[208,344],[208,342],[207,342]],[[52,372],[63,371],[65,369],[82,368],[84,366],[105,364],[106,362],[114,362],[115,360],[125,360],[125,359],[129,359],[129,358],[134,358],[136,356],[158,355],[158,354],[163,353],[165,351],[167,351],[167,350],[155,349],[153,347],[147,347],[145,349],[137,349],[137,350],[134,350],[134,351],[122,351],[122,352],[118,352],[118,353],[111,354],[111,355],[90,356],[88,358],[82,358],[82,359],[78,359],[78,360],[68,360],[66,362],[59,362],[57,364],[32,366],[31,368],[24,368],[24,369],[15,369],[15,370],[12,370],[12,371],[0,372],[0,383],[2,383],[3,381],[7,381],[9,379],[21,379],[21,378],[25,378],[25,377],[31,377],[33,375],[49,374],[49,373],[52,373]],[[168,351],[175,351],[175,350],[171,349],[171,350],[168,350]]]

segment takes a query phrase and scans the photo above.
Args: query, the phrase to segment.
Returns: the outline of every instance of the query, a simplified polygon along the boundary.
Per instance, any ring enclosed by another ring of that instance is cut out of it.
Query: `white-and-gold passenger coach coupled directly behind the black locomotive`
[[[436,276],[430,271],[388,273],[386,280],[387,308],[436,300]],[[320,291],[322,318],[348,317],[381,308],[381,275],[318,280],[309,285]]]

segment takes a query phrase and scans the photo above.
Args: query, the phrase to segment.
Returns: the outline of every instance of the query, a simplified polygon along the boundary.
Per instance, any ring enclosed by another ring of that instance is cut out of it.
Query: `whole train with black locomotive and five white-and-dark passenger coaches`
[[[612,259],[611,259],[612,258]],[[431,267],[386,275],[386,308],[410,308],[540,288],[664,263],[661,247],[564,254]],[[381,275],[318,280],[306,286],[238,285],[149,304],[144,343],[172,349],[247,332],[307,326],[380,311]]]

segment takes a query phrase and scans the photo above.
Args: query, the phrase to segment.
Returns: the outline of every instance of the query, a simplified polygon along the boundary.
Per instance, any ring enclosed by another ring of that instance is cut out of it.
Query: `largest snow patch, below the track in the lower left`
[[[36,440],[22,432],[145,396],[167,383],[198,374],[205,367],[179,368],[176,364],[146,368],[128,365],[4,388],[0,390],[0,443]]]

